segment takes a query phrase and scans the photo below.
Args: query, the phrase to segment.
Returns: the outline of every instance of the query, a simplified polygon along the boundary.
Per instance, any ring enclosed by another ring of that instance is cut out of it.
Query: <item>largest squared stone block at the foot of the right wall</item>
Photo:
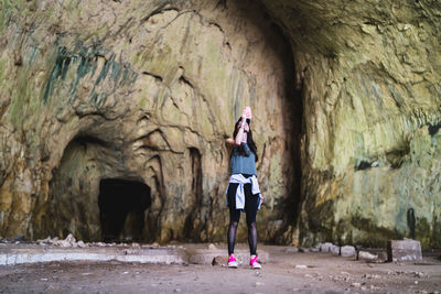
[[[416,240],[389,240],[387,241],[388,261],[420,261],[422,260],[421,244]]]

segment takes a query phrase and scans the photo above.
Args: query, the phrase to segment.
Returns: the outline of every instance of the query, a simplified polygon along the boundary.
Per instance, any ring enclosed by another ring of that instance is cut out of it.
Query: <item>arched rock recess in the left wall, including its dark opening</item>
[[[149,175],[142,177],[127,167],[120,148],[111,140],[90,130],[77,134],[53,171],[50,197],[39,209],[42,226],[36,228],[36,236],[65,238],[73,233],[84,241],[154,240],[163,189]]]

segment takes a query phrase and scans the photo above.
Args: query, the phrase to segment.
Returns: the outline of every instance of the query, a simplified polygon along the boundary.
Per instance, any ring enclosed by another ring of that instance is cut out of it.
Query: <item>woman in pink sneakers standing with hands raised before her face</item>
[[[227,146],[232,148],[228,187],[226,190],[227,205],[229,207],[228,227],[228,268],[237,268],[234,257],[236,242],[236,230],[240,219],[240,211],[246,213],[248,226],[248,243],[250,251],[249,264],[252,269],[261,269],[257,261],[257,228],[256,214],[260,208],[263,197],[257,183],[257,148],[252,141],[252,132],[249,128],[251,109],[244,108],[241,118],[236,122],[233,138],[226,140]]]

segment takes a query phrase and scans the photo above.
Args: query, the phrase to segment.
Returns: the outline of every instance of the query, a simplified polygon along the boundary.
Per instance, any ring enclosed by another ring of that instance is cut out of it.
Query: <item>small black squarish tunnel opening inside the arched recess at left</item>
[[[151,206],[148,185],[131,179],[104,178],[99,182],[98,207],[104,241],[146,239],[144,213]]]

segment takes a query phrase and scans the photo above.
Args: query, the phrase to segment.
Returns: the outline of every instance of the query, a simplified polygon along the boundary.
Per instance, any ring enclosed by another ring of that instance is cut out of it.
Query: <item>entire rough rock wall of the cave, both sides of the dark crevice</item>
[[[224,240],[249,105],[260,240],[441,246],[439,2],[0,6],[1,236]]]

